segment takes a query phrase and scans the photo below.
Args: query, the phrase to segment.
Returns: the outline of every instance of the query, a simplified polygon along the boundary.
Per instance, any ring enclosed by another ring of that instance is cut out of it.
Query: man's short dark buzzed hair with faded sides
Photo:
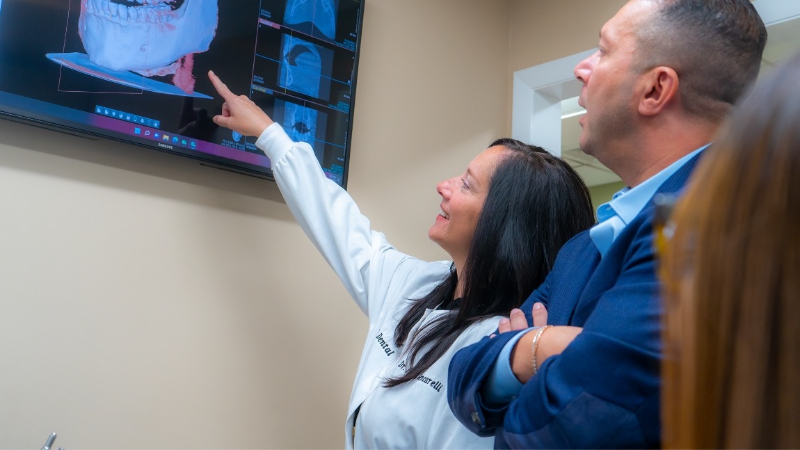
[[[687,113],[722,120],[758,77],[766,26],[749,0],[654,0],[638,30],[638,68],[678,73]]]

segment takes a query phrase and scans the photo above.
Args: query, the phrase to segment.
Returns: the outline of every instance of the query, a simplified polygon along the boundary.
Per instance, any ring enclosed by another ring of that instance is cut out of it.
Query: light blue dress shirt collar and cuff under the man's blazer
[[[598,207],[598,224],[589,230],[589,236],[598,248],[601,257],[606,255],[619,233],[622,233],[622,230],[625,229],[630,221],[633,221],[634,217],[642,212],[642,209],[650,201],[650,198],[655,195],[658,188],[664,184],[664,181],[683,167],[686,161],[689,161],[707,146],[703,145],[694,150],[694,152],[687,154],[641,184],[633,188],[625,187],[619,190],[611,197],[611,201]],[[533,329],[535,327],[518,331],[517,336],[511,338],[502,348],[494,368],[492,368],[483,387],[483,393],[490,404],[508,404],[511,400],[514,400],[514,397],[522,389],[522,383],[517,380],[514,372],[511,371],[511,350],[514,349],[514,345],[517,344],[517,341],[522,336]]]

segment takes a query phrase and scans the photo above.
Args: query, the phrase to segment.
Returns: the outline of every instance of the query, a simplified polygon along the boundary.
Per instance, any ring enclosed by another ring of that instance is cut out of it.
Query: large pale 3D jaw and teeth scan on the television
[[[192,55],[208,50],[217,22],[217,0],[82,0],[78,34],[94,65],[145,77],[172,74],[188,94]]]

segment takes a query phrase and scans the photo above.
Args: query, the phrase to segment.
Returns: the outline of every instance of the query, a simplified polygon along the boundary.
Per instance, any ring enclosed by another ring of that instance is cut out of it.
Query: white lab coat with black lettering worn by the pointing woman
[[[382,380],[406,364],[394,329],[409,299],[430,293],[450,273],[450,261],[421,261],[394,249],[325,177],[310,145],[291,141],[280,125],[270,125],[256,145],[270,157],[286,205],[370,321],[347,407],[346,448],[491,448],[494,438],[474,435],[450,412],[447,366],[459,349],[497,329],[500,318],[472,325],[417,380],[383,388]],[[414,330],[446,313],[428,311]]]

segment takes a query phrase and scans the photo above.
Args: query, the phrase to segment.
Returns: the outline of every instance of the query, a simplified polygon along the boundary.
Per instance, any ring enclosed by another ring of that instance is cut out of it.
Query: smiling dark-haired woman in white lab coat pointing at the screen
[[[578,174],[541,148],[494,141],[437,185],[441,211],[428,236],[453,261],[421,261],[370,229],[310,145],[209,76],[225,100],[214,121],[258,136],[286,205],[369,318],[346,448],[491,448],[493,438],[450,412],[447,367],[541,284],[564,242],[594,224]]]

